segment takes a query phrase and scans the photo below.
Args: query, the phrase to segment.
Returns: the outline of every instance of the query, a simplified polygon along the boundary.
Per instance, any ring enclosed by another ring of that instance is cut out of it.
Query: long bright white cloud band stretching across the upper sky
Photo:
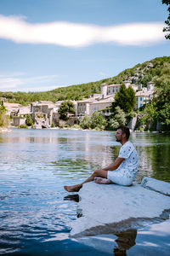
[[[83,47],[96,43],[147,45],[164,41],[161,22],[94,26],[64,21],[31,24],[23,17],[0,15],[0,38],[20,44]]]

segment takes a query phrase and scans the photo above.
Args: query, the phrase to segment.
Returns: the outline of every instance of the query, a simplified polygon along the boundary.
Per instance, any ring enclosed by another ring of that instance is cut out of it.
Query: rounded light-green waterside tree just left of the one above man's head
[[[91,117],[91,128],[105,130],[106,124],[107,122],[105,120],[105,117],[101,115],[99,112],[95,111]]]

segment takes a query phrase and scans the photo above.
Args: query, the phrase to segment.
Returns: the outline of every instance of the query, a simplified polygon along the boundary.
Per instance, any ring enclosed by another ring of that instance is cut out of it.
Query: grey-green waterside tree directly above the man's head
[[[114,115],[109,120],[109,128],[111,130],[116,130],[120,125],[125,125],[126,121],[126,113],[124,113],[124,111],[119,106],[117,106],[115,108]]]

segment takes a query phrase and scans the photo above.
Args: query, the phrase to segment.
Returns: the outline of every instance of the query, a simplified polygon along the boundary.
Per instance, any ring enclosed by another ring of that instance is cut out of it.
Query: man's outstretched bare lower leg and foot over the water
[[[84,183],[89,183],[94,180],[94,177],[105,177],[107,178],[107,171],[105,170],[96,170],[90,177],[88,177],[83,183],[73,185],[73,186],[64,186],[65,190],[68,192],[78,192],[82,189]]]

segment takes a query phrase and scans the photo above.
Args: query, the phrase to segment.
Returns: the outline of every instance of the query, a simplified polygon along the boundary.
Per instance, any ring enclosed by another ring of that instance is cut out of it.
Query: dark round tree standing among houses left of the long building
[[[76,113],[74,104],[70,101],[62,102],[59,108],[59,118],[62,120],[68,120],[69,113]]]

